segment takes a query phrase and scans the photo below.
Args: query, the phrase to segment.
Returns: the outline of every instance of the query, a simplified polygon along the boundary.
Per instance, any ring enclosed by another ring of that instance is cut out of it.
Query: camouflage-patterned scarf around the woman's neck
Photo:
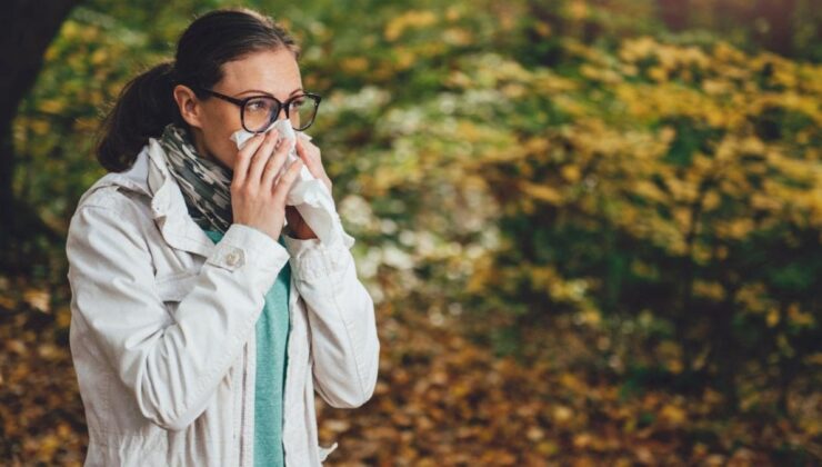
[[[202,229],[224,234],[233,221],[233,171],[198,153],[184,128],[169,123],[159,138],[169,171],[177,179],[189,215]]]

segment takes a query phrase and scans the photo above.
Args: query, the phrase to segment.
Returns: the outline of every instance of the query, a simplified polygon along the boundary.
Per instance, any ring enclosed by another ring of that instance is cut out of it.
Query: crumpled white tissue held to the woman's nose
[[[297,155],[298,133],[304,140],[310,141],[311,137],[302,131],[295,132],[291,128],[291,121],[288,119],[274,121],[265,129],[265,132],[273,128],[277,128],[280,132],[278,139],[284,140],[284,143],[289,145],[285,162],[280,169],[280,173],[282,173],[291,163],[300,159],[300,156]],[[237,143],[238,149],[242,149],[249,138],[253,136],[254,133],[241,129],[231,135],[231,140]],[[343,236],[348,237],[350,242],[351,238],[342,229],[340,216],[337,213],[337,207],[331,192],[325,183],[311,175],[308,166],[303,165],[300,169],[297,180],[291,185],[291,190],[285,197],[285,203],[297,208],[305,223],[317,234],[317,237],[322,244],[335,244],[341,241]],[[288,221],[284,225],[288,225]]]

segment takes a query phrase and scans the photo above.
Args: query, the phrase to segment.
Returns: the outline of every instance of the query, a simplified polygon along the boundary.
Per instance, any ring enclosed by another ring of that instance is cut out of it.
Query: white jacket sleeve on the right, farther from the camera
[[[374,304],[357,277],[353,237],[332,246],[284,235],[311,327],[314,388],[330,406],[355,408],[373,395],[380,362]]]

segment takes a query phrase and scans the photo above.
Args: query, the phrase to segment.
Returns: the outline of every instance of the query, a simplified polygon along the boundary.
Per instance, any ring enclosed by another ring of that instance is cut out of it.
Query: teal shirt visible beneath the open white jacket
[[[217,244],[222,234],[206,230]],[[285,246],[282,236],[278,240]],[[283,394],[289,332],[289,286],[287,262],[265,294],[265,306],[257,320],[257,378],[254,382],[254,465],[284,466],[282,448]]]

